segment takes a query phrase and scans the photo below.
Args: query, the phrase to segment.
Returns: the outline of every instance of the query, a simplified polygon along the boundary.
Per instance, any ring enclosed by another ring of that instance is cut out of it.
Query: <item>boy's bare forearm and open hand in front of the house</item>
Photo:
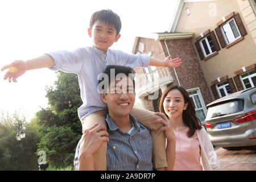
[[[150,65],[155,67],[168,67],[168,68],[177,68],[182,63],[179,57],[172,59],[172,56],[166,57],[164,61],[155,59],[154,57],[150,57]]]

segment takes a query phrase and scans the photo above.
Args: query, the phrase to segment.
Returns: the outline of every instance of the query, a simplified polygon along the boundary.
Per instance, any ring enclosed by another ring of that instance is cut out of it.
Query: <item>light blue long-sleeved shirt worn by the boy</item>
[[[55,61],[53,71],[61,70],[67,73],[76,73],[79,78],[82,105],[77,109],[82,121],[86,115],[95,111],[106,109],[106,104],[101,100],[97,90],[97,77],[105,71],[108,65],[122,65],[131,68],[148,67],[149,57],[125,53],[119,50],[108,49],[103,52],[93,47],[78,48],[75,51],[49,52]]]

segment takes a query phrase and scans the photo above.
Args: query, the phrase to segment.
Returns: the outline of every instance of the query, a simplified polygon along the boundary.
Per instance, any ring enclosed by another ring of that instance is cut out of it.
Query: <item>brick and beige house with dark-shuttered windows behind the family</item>
[[[253,0],[181,0],[168,31],[136,36],[133,53],[183,61],[178,68],[135,68],[142,107],[158,111],[164,89],[176,84],[204,121],[209,102],[256,86],[255,8]]]

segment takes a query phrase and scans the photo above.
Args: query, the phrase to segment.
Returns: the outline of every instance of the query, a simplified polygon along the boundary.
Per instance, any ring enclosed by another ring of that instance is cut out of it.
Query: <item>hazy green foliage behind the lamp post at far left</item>
[[[16,140],[16,124],[22,122],[26,137],[23,139],[24,157],[28,170],[38,169],[38,156],[36,156],[39,136],[34,126],[26,122],[26,118],[15,113],[12,117],[2,113],[0,118],[0,170],[24,170],[22,146]]]

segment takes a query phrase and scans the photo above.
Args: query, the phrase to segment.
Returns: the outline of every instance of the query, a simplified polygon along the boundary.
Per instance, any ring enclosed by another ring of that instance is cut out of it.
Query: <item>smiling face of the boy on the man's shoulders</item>
[[[108,48],[117,42],[120,38],[120,34],[117,35],[117,31],[113,26],[108,26],[106,23],[97,20],[92,27],[92,30],[88,28],[88,35],[93,38],[93,44],[97,49],[101,51],[108,51]]]

